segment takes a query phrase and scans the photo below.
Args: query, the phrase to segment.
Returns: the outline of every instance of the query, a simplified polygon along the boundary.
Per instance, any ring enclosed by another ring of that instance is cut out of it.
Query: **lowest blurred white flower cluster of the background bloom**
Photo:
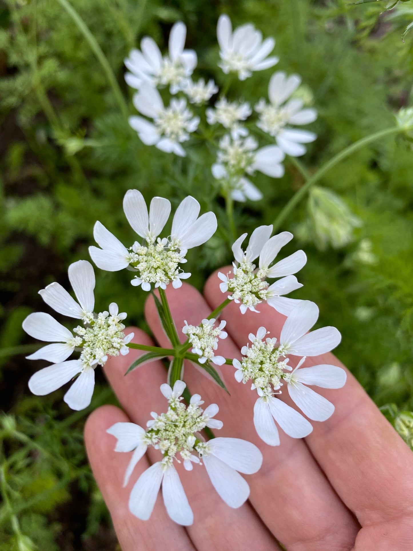
[[[219,143],[217,162],[211,167],[212,174],[217,180],[221,180],[224,188],[231,191],[235,201],[259,201],[262,193],[245,176],[253,175],[256,170],[267,176],[280,178],[284,175],[284,166],[281,164],[285,155],[276,145],[266,145],[257,149],[255,138],[231,139],[225,134]]]

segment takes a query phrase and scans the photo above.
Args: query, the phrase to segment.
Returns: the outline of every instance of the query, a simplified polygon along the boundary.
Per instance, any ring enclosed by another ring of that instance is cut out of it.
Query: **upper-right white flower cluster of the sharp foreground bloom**
[[[302,287],[297,278],[292,274],[301,270],[307,262],[304,251],[296,251],[283,260],[272,264],[280,252],[281,247],[291,241],[293,235],[289,231],[283,231],[270,237],[273,226],[259,226],[249,239],[246,252],[241,249],[241,244],[247,234],[241,235],[232,245],[232,252],[238,266],[233,263],[233,274],[218,273],[221,279],[220,289],[222,293],[230,292],[229,298],[240,304],[240,310],[244,314],[248,309],[257,312],[256,306],[266,301],[269,306],[288,316],[300,300],[288,299],[285,296],[295,289]],[[253,261],[259,256],[258,268]],[[269,285],[267,278],[280,277],[278,281]]]

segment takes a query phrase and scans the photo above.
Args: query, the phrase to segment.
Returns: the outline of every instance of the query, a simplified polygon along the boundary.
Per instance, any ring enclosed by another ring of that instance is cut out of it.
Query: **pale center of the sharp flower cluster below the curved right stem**
[[[228,280],[228,289],[232,299],[240,300],[246,306],[256,306],[265,299],[268,283],[258,277],[256,266],[252,262],[241,262],[234,268],[233,278]]]

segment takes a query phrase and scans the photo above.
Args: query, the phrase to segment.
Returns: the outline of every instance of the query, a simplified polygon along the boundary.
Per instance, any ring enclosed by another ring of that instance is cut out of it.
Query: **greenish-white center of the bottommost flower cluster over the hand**
[[[171,465],[174,459],[180,461],[176,457],[178,453],[183,460],[188,460],[202,442],[197,433],[206,426],[203,409],[197,404],[186,406],[181,399],[171,397],[166,413],[153,414],[156,417],[149,422],[150,428],[144,437],[148,446],[164,453],[162,464],[165,466]]]

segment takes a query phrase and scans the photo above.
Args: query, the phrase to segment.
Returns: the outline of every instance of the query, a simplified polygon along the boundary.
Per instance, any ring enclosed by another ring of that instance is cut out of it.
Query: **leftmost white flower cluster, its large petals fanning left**
[[[35,312],[23,322],[23,329],[31,337],[40,341],[52,342],[27,356],[30,360],[52,361],[53,365],[37,371],[30,377],[29,388],[37,396],[44,396],[66,385],[75,375],[75,380],[64,401],[72,409],[84,409],[89,406],[95,386],[95,368],[104,365],[108,356],[125,355],[129,352],[127,344],[133,333],[125,337],[121,323],[126,313],[118,313],[115,302],[109,306],[109,312],[94,314],[95,274],[91,264],[79,260],[69,266],[69,280],[79,302],[59,283],[51,283],[39,291],[42,299],[65,316],[74,317],[83,322],[69,329],[57,322],[50,314]],[[81,350],[78,360],[66,360],[75,349]]]

